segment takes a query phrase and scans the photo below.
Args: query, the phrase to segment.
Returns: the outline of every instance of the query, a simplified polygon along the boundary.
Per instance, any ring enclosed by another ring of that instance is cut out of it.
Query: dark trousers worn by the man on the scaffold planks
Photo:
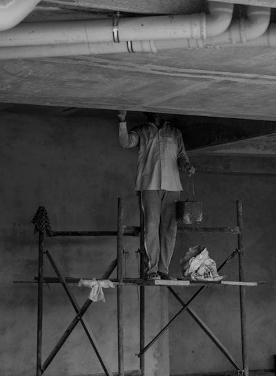
[[[146,272],[167,274],[177,235],[179,191],[141,191],[139,206],[144,214]]]

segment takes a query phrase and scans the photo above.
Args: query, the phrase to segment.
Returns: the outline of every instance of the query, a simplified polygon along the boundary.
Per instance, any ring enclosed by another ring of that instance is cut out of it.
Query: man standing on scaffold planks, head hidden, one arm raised
[[[146,279],[174,280],[168,272],[177,234],[177,205],[182,186],[179,169],[195,173],[179,129],[161,119],[160,113],[144,113],[147,122],[128,132],[126,111],[118,111],[119,143],[138,147],[135,191],[144,214]]]

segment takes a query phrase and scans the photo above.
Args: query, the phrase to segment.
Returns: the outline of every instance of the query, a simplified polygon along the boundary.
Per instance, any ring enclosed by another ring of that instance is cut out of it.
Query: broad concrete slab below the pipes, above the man
[[[275,120],[276,49],[0,62],[1,102]]]

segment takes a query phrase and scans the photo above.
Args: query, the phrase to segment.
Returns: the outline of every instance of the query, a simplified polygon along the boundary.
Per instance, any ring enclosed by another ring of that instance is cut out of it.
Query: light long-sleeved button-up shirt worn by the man
[[[146,123],[128,132],[126,122],[119,122],[119,143],[139,148],[135,191],[182,191],[179,169],[186,171],[190,161],[179,129]]]

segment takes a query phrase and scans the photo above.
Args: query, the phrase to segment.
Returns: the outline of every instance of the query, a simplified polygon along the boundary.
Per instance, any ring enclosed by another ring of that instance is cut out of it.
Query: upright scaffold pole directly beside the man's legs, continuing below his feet
[[[144,262],[144,214],[140,210],[140,278],[145,278],[145,262]],[[140,353],[145,347],[145,286],[140,286]],[[145,355],[140,357],[140,375],[145,375]]]

